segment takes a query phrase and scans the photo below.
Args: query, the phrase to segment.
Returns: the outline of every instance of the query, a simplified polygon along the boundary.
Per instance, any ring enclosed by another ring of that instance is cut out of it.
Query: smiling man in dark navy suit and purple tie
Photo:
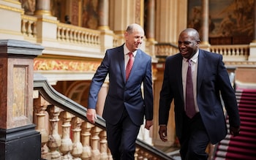
[[[236,96],[222,55],[200,50],[199,44],[200,37],[194,28],[181,32],[178,37],[180,53],[166,58],[160,92],[159,136],[167,141],[166,126],[174,99],[176,135],[182,160],[207,159],[208,143],[216,144],[227,135],[220,94],[227,110],[230,134],[237,136],[240,130]],[[192,76],[187,75],[189,67]],[[192,77],[192,84],[187,83],[187,77]],[[186,94],[186,86],[191,87],[189,94]],[[191,95],[192,99],[187,101]]]

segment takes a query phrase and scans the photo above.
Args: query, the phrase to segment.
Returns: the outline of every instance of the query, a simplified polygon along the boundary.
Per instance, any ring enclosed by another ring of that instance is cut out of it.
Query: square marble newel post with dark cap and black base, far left
[[[41,159],[41,135],[33,123],[34,58],[43,47],[0,40],[0,159]]]

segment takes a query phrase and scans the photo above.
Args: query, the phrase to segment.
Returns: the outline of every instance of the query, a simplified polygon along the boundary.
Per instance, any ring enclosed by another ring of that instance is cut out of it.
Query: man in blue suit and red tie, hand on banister
[[[103,118],[106,121],[108,147],[113,159],[135,159],[135,141],[145,115],[145,128],[153,125],[153,93],[151,56],[142,50],[144,30],[133,23],[124,34],[125,43],[106,50],[97,72],[91,80],[87,118],[94,123],[97,96],[105,77],[109,75],[109,89]],[[132,53],[132,70],[126,78],[129,55]],[[127,66],[127,67],[126,67]],[[143,84],[143,94],[141,85]]]

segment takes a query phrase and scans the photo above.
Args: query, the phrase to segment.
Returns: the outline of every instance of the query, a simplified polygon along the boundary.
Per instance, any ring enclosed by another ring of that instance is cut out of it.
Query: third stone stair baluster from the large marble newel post
[[[70,151],[72,151],[72,140],[70,139],[70,121],[72,119],[72,114],[67,111],[61,112],[62,121],[62,137],[61,137],[61,147],[59,148],[63,154],[62,159],[72,159]]]

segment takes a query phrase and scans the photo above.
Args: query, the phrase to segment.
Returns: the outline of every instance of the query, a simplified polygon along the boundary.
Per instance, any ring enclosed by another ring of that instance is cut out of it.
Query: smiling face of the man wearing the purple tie
[[[187,32],[182,32],[178,37],[178,50],[184,58],[192,58],[197,52],[199,41]]]

